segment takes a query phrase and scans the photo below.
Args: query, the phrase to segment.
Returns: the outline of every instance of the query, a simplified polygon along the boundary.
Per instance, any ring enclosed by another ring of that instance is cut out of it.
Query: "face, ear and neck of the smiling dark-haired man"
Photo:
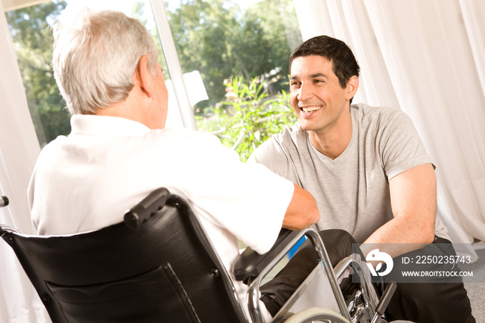
[[[310,55],[292,61],[291,103],[313,146],[330,159],[340,156],[352,136],[349,101],[358,89],[357,76],[344,87],[327,58]]]

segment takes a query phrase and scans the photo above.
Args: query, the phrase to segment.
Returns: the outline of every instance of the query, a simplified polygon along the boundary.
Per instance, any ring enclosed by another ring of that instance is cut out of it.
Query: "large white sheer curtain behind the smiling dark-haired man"
[[[454,243],[485,241],[485,3],[294,0],[303,40],[349,44],[354,102],[400,107],[436,164],[438,216]],[[476,253],[469,245],[459,252]]]

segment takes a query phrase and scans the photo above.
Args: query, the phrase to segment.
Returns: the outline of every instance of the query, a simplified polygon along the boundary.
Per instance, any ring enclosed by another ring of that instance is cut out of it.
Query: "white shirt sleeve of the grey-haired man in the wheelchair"
[[[243,163],[217,137],[199,136],[194,153],[199,169],[191,175],[205,192],[192,196],[207,220],[227,229],[245,245],[263,254],[278,236],[292,199],[292,182],[265,166]],[[216,162],[215,162],[216,161]]]

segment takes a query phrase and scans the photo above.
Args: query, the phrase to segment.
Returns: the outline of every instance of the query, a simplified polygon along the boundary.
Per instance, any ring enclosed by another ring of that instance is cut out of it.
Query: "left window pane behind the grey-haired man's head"
[[[64,109],[65,103],[60,96],[51,69],[53,37],[50,27],[64,10],[76,10],[78,6],[87,6],[93,10],[120,10],[130,17],[140,19],[159,48],[159,63],[164,69],[164,77],[170,86],[170,76],[159,44],[155,21],[152,12],[147,12],[150,10],[148,0],[144,2],[54,0],[37,6],[7,11],[8,28],[15,46],[30,116],[41,147],[59,135],[71,132],[70,114]],[[171,102],[171,105],[175,111],[178,111],[177,101]]]

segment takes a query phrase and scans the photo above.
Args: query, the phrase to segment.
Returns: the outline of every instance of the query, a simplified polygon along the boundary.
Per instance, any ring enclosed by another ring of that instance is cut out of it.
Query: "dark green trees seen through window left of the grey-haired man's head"
[[[60,134],[68,134],[71,129],[69,112],[64,110],[50,65],[53,37],[48,25],[66,6],[64,1],[53,1],[6,12],[28,107],[41,145]]]

